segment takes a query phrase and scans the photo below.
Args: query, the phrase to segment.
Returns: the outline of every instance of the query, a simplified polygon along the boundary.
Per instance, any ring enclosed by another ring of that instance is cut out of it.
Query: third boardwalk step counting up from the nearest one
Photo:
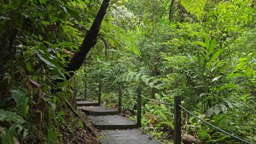
[[[118,110],[108,109],[103,106],[79,106],[78,109],[88,113],[91,116],[117,115]]]

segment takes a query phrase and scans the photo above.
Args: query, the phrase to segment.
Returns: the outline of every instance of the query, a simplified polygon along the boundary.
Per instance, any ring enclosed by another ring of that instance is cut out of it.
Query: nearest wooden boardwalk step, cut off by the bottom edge
[[[126,129],[126,130],[102,130],[100,141],[102,144],[159,144],[158,140],[155,140],[152,136],[143,133],[138,129]]]

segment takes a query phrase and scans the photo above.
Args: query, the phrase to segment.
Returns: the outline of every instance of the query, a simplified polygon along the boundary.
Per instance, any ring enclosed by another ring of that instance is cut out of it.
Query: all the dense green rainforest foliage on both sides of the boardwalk
[[[97,142],[65,101],[74,104],[85,86],[88,99],[96,100],[100,85],[109,107],[117,107],[122,86],[122,110],[130,119],[136,119],[141,87],[144,97],[166,103],[179,95],[195,115],[256,142],[255,1],[113,0],[97,45],[67,81],[63,68],[100,4],[0,1],[2,143]],[[142,100],[142,129],[172,143],[174,107]],[[182,123],[182,133],[201,143],[241,143],[184,111]]]

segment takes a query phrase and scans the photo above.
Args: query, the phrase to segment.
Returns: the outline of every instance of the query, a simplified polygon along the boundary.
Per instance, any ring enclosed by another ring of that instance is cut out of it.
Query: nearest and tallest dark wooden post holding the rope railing
[[[181,96],[174,97],[174,144],[181,144]]]

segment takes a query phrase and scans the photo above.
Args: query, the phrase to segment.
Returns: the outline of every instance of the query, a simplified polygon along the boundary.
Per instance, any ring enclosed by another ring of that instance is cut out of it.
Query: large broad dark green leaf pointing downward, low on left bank
[[[20,91],[19,89],[11,89],[11,95],[13,96],[13,99],[15,103],[18,105],[19,111],[23,116],[27,115],[28,112],[28,93]]]

